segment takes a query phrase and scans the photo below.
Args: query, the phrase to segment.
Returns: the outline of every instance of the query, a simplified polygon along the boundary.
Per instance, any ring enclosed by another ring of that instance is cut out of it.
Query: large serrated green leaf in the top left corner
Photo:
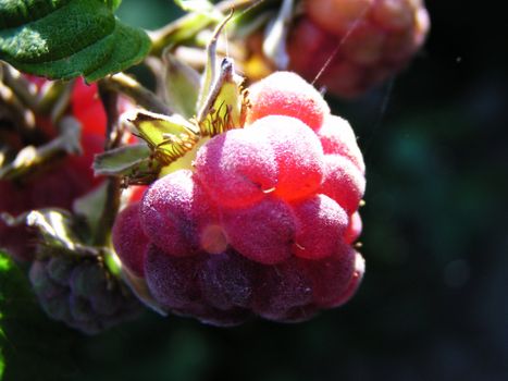
[[[0,59],[50,78],[97,81],[149,51],[146,33],[117,21],[120,1],[7,0],[0,3]],[[58,27],[57,27],[58,26]]]

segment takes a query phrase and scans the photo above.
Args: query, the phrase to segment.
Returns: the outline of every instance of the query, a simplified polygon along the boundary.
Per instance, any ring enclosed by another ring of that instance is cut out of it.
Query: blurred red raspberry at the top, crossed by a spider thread
[[[288,38],[289,67],[309,81],[324,69],[318,84],[343,97],[404,67],[430,25],[421,0],[312,0],[303,8]]]

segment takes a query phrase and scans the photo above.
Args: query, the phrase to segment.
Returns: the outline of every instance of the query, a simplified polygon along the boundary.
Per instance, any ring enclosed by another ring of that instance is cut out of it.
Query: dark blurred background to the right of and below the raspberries
[[[5,380],[508,380],[507,24],[484,4],[428,0],[412,64],[362,99],[329,99],[368,167],[350,303],[234,329],[147,311],[94,337],[34,312]],[[154,28],[174,11],[124,0],[119,16]]]

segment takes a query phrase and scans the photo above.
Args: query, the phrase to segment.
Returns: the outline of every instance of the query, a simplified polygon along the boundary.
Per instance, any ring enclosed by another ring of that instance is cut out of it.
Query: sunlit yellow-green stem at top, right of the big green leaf
[[[215,8],[220,12],[226,12],[232,9],[256,5],[258,2],[259,0],[230,0],[218,3]],[[202,20],[200,21],[200,19]],[[162,50],[175,39],[177,34],[181,35],[177,38],[179,40],[191,38],[212,22],[211,17],[207,19],[202,14],[189,13],[160,29],[148,32],[151,39],[150,54],[160,56]],[[188,25],[194,25],[194,27],[189,28]]]

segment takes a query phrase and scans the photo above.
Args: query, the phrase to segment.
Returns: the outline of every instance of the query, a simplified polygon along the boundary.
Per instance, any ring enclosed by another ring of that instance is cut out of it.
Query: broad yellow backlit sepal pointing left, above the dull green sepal
[[[126,118],[152,151],[154,159],[168,165],[191,150],[199,139],[196,126],[178,114],[171,116],[135,111]]]

